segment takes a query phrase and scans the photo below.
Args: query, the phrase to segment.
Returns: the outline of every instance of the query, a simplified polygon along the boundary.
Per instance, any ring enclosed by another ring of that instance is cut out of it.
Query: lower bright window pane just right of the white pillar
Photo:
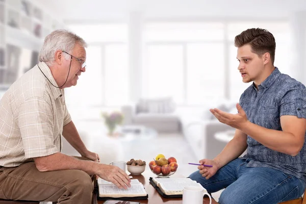
[[[147,97],[173,96],[177,103],[183,103],[183,46],[148,46],[148,90]]]

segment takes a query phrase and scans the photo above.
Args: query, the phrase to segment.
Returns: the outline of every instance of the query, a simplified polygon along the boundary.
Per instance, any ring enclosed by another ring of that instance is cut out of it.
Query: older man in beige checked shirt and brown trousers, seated
[[[90,174],[128,188],[116,166],[100,164],[71,121],[64,88],[86,70],[86,42],[64,30],[49,34],[39,64],[23,74],[0,101],[0,198],[90,203]],[[87,160],[61,154],[61,137]]]

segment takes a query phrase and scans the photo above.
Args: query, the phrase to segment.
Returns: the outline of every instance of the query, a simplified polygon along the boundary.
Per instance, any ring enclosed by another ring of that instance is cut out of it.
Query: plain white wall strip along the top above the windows
[[[64,20],[127,19],[131,11],[146,18],[172,17],[288,17],[306,9],[304,0],[41,0]]]

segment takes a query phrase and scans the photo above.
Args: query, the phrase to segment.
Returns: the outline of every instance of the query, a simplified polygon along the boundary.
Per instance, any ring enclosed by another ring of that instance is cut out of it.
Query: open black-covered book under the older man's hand
[[[147,196],[143,185],[137,180],[131,180],[131,187],[119,189],[115,184],[98,178],[99,197],[142,197]],[[146,198],[145,198],[146,199]]]

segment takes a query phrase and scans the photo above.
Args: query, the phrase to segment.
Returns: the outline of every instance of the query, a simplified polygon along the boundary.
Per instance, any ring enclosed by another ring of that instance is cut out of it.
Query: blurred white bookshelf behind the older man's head
[[[25,70],[24,62],[31,61],[25,60],[25,56],[39,52],[49,33],[65,28],[64,23],[54,17],[56,15],[48,13],[38,3],[36,0],[0,0],[0,85],[7,86],[19,78]]]

